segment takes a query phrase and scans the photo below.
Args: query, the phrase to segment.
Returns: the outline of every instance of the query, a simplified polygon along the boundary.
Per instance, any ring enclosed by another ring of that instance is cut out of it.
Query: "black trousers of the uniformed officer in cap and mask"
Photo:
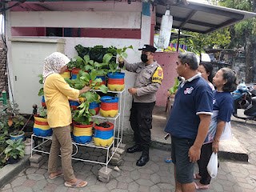
[[[134,130],[134,140],[142,147],[150,147],[154,105],[155,102],[133,102],[130,109],[130,126]]]

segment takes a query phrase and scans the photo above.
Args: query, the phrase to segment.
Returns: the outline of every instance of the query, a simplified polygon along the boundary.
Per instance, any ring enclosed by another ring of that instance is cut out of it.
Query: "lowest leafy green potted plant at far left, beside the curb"
[[[24,157],[25,143],[22,142],[22,138],[19,138],[17,141],[9,139],[6,143],[8,146],[6,150],[4,150],[6,154],[4,161],[6,161],[7,164],[14,164],[18,162],[20,158]]]

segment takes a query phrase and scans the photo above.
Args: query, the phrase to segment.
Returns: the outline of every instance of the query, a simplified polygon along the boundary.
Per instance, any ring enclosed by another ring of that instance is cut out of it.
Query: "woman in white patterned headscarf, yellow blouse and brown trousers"
[[[66,70],[70,59],[64,54],[54,52],[46,57],[43,68],[44,96],[47,107],[47,121],[53,128],[52,144],[48,162],[49,178],[54,179],[64,174],[65,186],[84,187],[87,182],[74,177],[71,164],[72,141],[70,123],[72,122],[68,98],[77,99],[80,94],[90,90],[71,88],[60,74]],[[58,170],[58,155],[62,154],[62,170]],[[63,172],[62,172],[63,171]]]

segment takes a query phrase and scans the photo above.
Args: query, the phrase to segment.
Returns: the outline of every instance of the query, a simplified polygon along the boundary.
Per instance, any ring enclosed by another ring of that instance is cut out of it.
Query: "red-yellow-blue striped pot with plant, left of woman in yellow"
[[[47,122],[47,110],[43,107],[38,109],[38,114],[34,115],[34,134],[36,136],[50,136],[53,134],[53,130],[50,128]]]

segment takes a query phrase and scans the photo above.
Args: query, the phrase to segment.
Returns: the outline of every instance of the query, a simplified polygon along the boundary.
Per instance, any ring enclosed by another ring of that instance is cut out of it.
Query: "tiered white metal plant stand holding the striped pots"
[[[101,90],[95,90],[95,91],[101,91]],[[102,118],[102,119],[109,119],[109,120],[114,121],[113,142],[110,144],[110,146],[96,146],[93,138],[92,138],[91,142],[87,142],[85,144],[76,143],[76,142],[72,141],[72,144],[76,147],[76,150],[77,150],[74,154],[72,154],[72,156],[74,156],[75,154],[78,153],[78,146],[94,147],[94,148],[106,150],[106,162],[91,161],[88,159],[73,158],[73,157],[72,157],[72,159],[82,161],[82,162],[94,162],[94,163],[106,165],[106,167],[107,167],[111,158],[113,157],[114,153],[118,149],[118,146],[120,144],[122,144],[122,126],[123,126],[123,118],[124,118],[124,109],[125,109],[125,104],[126,104],[126,102],[125,102],[126,88],[122,91],[108,90],[108,92],[116,93],[119,95],[118,114],[114,118],[110,118],[110,117],[106,118],[106,117],[101,116],[100,114],[94,115],[91,118]],[[117,123],[117,121],[118,121],[118,123]],[[121,122],[122,122],[122,126],[121,126]],[[44,143],[46,143],[47,141],[52,139],[51,136],[50,137],[41,137],[41,136],[36,136],[35,134],[32,134],[31,139],[33,140],[33,138],[42,138],[42,143],[40,143],[38,146],[42,146]],[[49,152],[47,152],[47,151],[38,150],[38,146],[32,146],[32,143],[31,143],[31,156],[33,154],[33,151],[41,152],[44,154],[49,154]],[[109,157],[110,150],[112,150],[112,155]]]

